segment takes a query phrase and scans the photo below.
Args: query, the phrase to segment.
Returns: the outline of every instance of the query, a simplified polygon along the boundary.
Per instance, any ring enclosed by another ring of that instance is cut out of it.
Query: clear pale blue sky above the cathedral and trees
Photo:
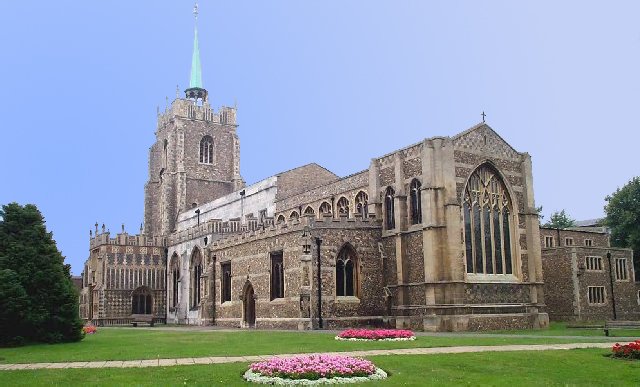
[[[156,107],[189,80],[190,1],[0,2],[0,203],[34,203],[79,274],[137,232]],[[201,1],[203,83],[238,106],[253,183],[487,122],[544,214],[603,215],[638,175],[638,1]]]

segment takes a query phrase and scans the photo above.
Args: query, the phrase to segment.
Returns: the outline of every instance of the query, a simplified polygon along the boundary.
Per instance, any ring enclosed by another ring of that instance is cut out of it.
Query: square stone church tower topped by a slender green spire
[[[198,47],[198,4],[185,97],[158,112],[156,141],[149,149],[145,185],[144,233],[170,234],[178,214],[244,187],[235,107],[215,111],[202,85]],[[176,91],[176,94],[178,92]]]

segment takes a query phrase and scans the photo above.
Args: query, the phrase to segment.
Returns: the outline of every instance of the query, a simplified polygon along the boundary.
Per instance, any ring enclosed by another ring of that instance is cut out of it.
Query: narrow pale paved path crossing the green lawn
[[[433,355],[438,353],[469,353],[469,352],[510,352],[510,351],[547,351],[578,348],[611,348],[611,343],[571,343],[571,344],[540,344],[540,345],[495,345],[495,346],[464,346],[438,348],[403,348],[378,349],[351,352],[323,352],[332,355],[345,356],[381,356],[381,355]],[[10,370],[38,370],[38,369],[67,369],[67,368],[134,368],[134,367],[168,367],[193,364],[244,363],[266,360],[271,357],[291,357],[299,354],[259,355],[259,356],[217,356],[181,359],[151,359],[126,361],[79,361],[70,363],[30,363],[30,364],[0,364],[0,371]],[[308,354],[307,354],[308,355]]]

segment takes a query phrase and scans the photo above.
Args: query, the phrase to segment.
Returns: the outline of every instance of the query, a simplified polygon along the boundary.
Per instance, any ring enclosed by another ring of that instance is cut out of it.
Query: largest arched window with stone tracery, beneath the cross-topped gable
[[[511,199],[490,165],[478,167],[469,177],[462,212],[467,273],[513,274]]]

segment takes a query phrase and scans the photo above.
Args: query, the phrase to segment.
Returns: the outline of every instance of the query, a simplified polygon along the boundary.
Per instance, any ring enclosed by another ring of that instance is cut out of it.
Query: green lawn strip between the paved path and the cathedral
[[[579,341],[604,341],[585,338]],[[459,345],[550,344],[576,342],[556,337],[419,336],[404,342],[336,341],[327,333],[273,331],[168,331],[100,328],[78,343],[0,348],[2,363],[134,360],[203,356],[265,355]]]

